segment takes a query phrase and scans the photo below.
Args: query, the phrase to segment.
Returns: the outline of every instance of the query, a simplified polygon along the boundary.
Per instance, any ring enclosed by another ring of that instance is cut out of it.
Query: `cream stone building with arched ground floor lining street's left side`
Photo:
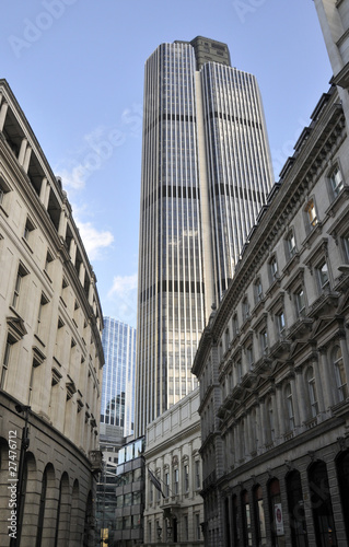
[[[5,80],[0,101],[0,544],[13,532],[11,546],[90,546],[104,363],[96,279]]]

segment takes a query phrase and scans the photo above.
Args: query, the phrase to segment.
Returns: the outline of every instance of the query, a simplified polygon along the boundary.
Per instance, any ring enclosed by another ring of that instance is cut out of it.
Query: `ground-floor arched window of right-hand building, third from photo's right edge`
[[[306,521],[300,473],[294,469],[286,478],[292,547],[307,547]]]

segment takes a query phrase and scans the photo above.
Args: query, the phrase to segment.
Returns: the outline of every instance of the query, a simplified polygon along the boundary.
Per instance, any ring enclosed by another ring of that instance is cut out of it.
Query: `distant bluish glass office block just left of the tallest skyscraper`
[[[104,317],[101,439],[133,432],[136,329]]]

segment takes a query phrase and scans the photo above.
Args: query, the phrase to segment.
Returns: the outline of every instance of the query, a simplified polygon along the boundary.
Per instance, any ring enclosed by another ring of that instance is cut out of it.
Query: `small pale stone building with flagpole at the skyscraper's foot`
[[[203,545],[198,406],[196,388],[147,428],[143,516],[147,547]]]

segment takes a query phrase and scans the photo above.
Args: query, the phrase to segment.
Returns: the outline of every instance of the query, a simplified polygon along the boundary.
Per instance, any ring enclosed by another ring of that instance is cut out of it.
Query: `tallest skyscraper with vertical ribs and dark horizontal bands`
[[[136,434],[191,391],[211,305],[271,188],[256,79],[225,44],[162,44],[146,63]]]

